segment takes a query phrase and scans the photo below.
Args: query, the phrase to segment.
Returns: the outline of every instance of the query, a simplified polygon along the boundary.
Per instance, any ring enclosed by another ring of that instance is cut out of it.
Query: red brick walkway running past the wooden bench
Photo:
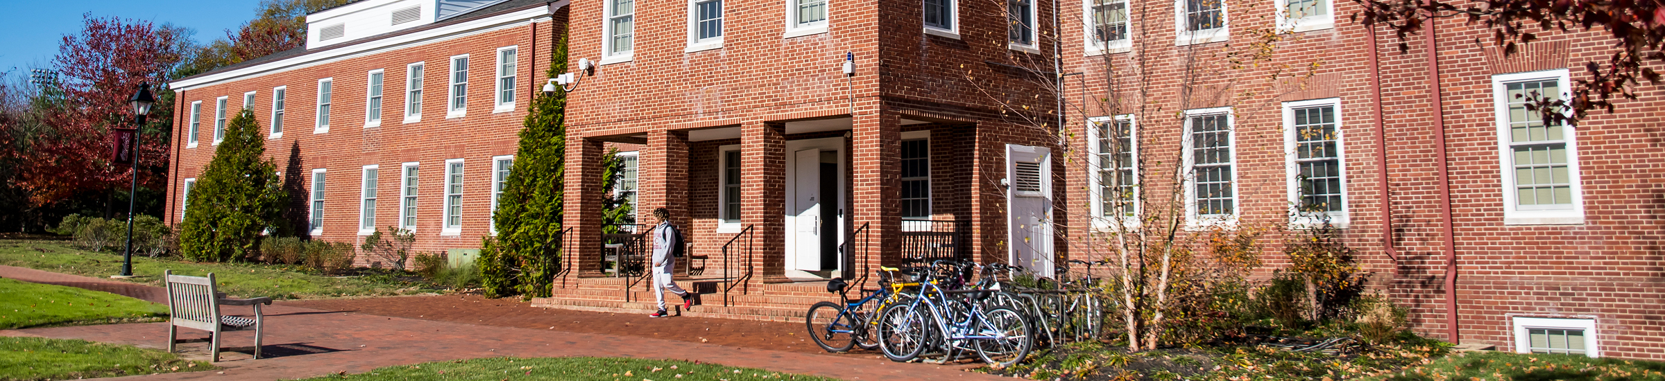
[[[120,291],[130,296],[160,296],[160,288],[0,266],[0,276]],[[228,313],[240,313],[228,308]],[[271,358],[250,359],[243,353],[221,353],[216,371],[133,376],[133,379],[286,379],[328,373],[363,373],[380,366],[490,356],[623,356],[698,359],[706,363],[763,368],[783,373],[818,374],[841,379],[996,379],[961,371],[966,366],[901,364],[872,358],[803,354],[734,348],[636,336],[594,334],[451,321],[388,318],[276,304],[266,309],[270,331],[265,351]],[[165,348],[168,328],[152,324],[67,326],[0,331],[0,336],[75,338],[105,343]],[[181,338],[206,334],[181,329]],[[253,333],[228,333],[226,346],[248,346]],[[205,356],[206,344],[181,344],[188,358]],[[246,351],[246,349],[241,349]]]

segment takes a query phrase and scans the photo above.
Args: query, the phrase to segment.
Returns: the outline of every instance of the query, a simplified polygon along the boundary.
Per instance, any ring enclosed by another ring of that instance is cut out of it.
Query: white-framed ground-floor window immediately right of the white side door
[[[1134,115],[1096,116],[1087,120],[1089,190],[1094,195],[1094,228],[1107,230],[1116,221],[1132,226],[1139,221],[1139,140]]]

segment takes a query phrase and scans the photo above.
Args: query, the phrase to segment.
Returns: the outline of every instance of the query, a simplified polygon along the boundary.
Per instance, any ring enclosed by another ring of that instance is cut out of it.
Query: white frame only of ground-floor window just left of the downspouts
[[[1295,151],[1299,131],[1295,128],[1295,108],[1332,106],[1335,108],[1335,163],[1340,171],[1342,210],[1325,211],[1324,216],[1299,213],[1300,208],[1300,155]],[[1317,228],[1329,218],[1330,226],[1347,228],[1352,196],[1347,193],[1347,133],[1342,131],[1342,98],[1284,101],[1284,180],[1289,195],[1289,223],[1294,228]],[[1235,146],[1234,146],[1235,148]],[[1235,153],[1235,151],[1232,151]]]

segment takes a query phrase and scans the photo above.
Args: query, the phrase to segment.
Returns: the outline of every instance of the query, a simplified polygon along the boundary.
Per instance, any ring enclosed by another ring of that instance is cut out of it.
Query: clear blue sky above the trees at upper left
[[[255,17],[258,0],[0,0],[0,73],[47,67],[63,35],[82,28],[82,13],[125,17],[195,28],[198,42],[225,37]]]

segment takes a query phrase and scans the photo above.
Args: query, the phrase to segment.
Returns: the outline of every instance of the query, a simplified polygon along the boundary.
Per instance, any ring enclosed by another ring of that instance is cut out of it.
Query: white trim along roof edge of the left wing
[[[305,68],[305,67],[323,65],[323,63],[331,63],[331,62],[346,60],[346,58],[356,58],[356,57],[365,57],[365,55],[383,53],[383,52],[388,52],[388,50],[398,50],[398,48],[406,48],[406,47],[415,47],[415,45],[445,42],[445,40],[470,37],[470,35],[485,33],[485,32],[500,30],[500,28],[521,27],[521,25],[536,22],[534,18],[541,18],[541,17],[549,15],[549,10],[551,8],[548,8],[548,7],[534,7],[534,8],[528,8],[528,10],[521,10],[521,12],[511,12],[511,13],[504,13],[504,15],[496,15],[496,17],[486,17],[486,18],[480,18],[480,20],[463,22],[463,23],[458,23],[458,25],[448,25],[448,27],[443,27],[443,28],[433,28],[433,30],[416,32],[416,33],[396,35],[396,37],[388,37],[388,38],[381,38],[381,40],[363,42],[363,43],[358,43],[358,45],[345,45],[345,47],[338,47],[338,48],[330,48],[330,50],[316,52],[316,53],[306,53],[306,55],[300,55],[300,57],[290,57],[290,58],[283,58],[283,60],[276,60],[276,62],[260,63],[260,65],[253,65],[253,67],[246,67],[246,68],[235,68],[235,70],[226,70],[226,72],[221,72],[221,73],[211,73],[211,75],[203,75],[203,77],[195,77],[195,78],[176,80],[173,83],[168,83],[168,88],[171,88],[175,92],[183,92],[183,90],[191,90],[191,88],[198,88],[198,87],[215,85],[215,83],[220,83],[220,82],[238,80],[238,78],[243,78],[243,77],[281,73],[281,72],[288,72],[288,70],[298,70],[298,68]]]

